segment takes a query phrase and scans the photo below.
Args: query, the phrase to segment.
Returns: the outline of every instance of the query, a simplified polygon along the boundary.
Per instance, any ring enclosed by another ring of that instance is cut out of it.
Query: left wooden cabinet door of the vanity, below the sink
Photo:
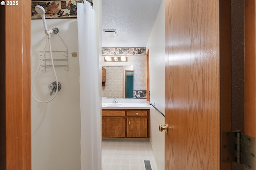
[[[125,137],[125,117],[102,117],[102,137]]]

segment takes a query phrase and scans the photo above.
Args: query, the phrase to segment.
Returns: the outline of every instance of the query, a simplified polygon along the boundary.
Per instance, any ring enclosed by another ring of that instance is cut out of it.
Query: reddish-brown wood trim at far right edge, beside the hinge
[[[244,132],[256,138],[256,3],[254,0],[245,0],[245,69],[244,69]]]

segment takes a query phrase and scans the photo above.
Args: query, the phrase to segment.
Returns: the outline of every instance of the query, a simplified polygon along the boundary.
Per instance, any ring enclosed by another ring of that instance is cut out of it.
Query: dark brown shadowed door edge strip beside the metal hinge
[[[231,0],[220,2],[220,139],[231,131]],[[221,146],[221,142],[220,142]],[[220,147],[220,153],[222,148]],[[231,163],[223,162],[220,169],[230,170]]]

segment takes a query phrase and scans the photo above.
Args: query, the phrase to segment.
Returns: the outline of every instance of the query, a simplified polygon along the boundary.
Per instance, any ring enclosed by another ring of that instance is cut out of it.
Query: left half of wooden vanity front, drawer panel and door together
[[[102,111],[102,137],[125,137],[125,111]]]

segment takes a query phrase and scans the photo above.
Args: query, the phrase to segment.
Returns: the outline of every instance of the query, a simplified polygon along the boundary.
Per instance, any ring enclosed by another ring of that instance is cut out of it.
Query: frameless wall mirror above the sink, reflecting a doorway
[[[134,66],[112,65],[106,69],[106,83],[102,96],[107,98],[133,98]]]

